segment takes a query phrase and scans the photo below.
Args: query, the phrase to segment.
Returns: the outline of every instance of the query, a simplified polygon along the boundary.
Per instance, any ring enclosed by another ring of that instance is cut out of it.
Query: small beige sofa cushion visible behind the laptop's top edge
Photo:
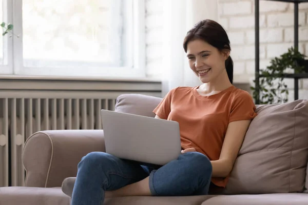
[[[122,94],[117,98],[114,111],[155,117],[152,111],[162,101],[160,97],[141,94]]]

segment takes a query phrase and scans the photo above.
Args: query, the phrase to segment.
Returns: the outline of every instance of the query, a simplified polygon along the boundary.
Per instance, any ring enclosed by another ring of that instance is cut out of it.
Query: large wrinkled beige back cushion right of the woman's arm
[[[303,192],[308,100],[257,106],[225,194]]]

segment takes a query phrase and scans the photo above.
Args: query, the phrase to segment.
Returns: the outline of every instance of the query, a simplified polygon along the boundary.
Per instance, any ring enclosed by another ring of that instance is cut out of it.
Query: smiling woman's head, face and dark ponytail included
[[[226,72],[230,83],[233,83],[230,41],[219,24],[211,20],[196,24],[188,31],[183,47],[191,70],[200,77],[202,83],[208,83],[220,76],[221,72]]]

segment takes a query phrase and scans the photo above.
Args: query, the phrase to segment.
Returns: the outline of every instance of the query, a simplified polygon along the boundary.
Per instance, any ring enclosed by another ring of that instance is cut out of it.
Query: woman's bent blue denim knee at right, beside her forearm
[[[207,194],[211,179],[210,160],[199,152],[181,154],[149,176],[154,196],[186,196]]]

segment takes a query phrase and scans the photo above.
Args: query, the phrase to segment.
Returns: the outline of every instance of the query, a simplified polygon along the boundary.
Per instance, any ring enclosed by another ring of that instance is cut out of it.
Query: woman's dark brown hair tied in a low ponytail
[[[201,20],[187,32],[183,43],[185,53],[187,52],[188,42],[195,39],[202,39],[221,52],[225,49],[231,51],[230,41],[226,31],[214,20]],[[225,67],[230,83],[233,84],[233,60],[230,56],[225,60]]]

